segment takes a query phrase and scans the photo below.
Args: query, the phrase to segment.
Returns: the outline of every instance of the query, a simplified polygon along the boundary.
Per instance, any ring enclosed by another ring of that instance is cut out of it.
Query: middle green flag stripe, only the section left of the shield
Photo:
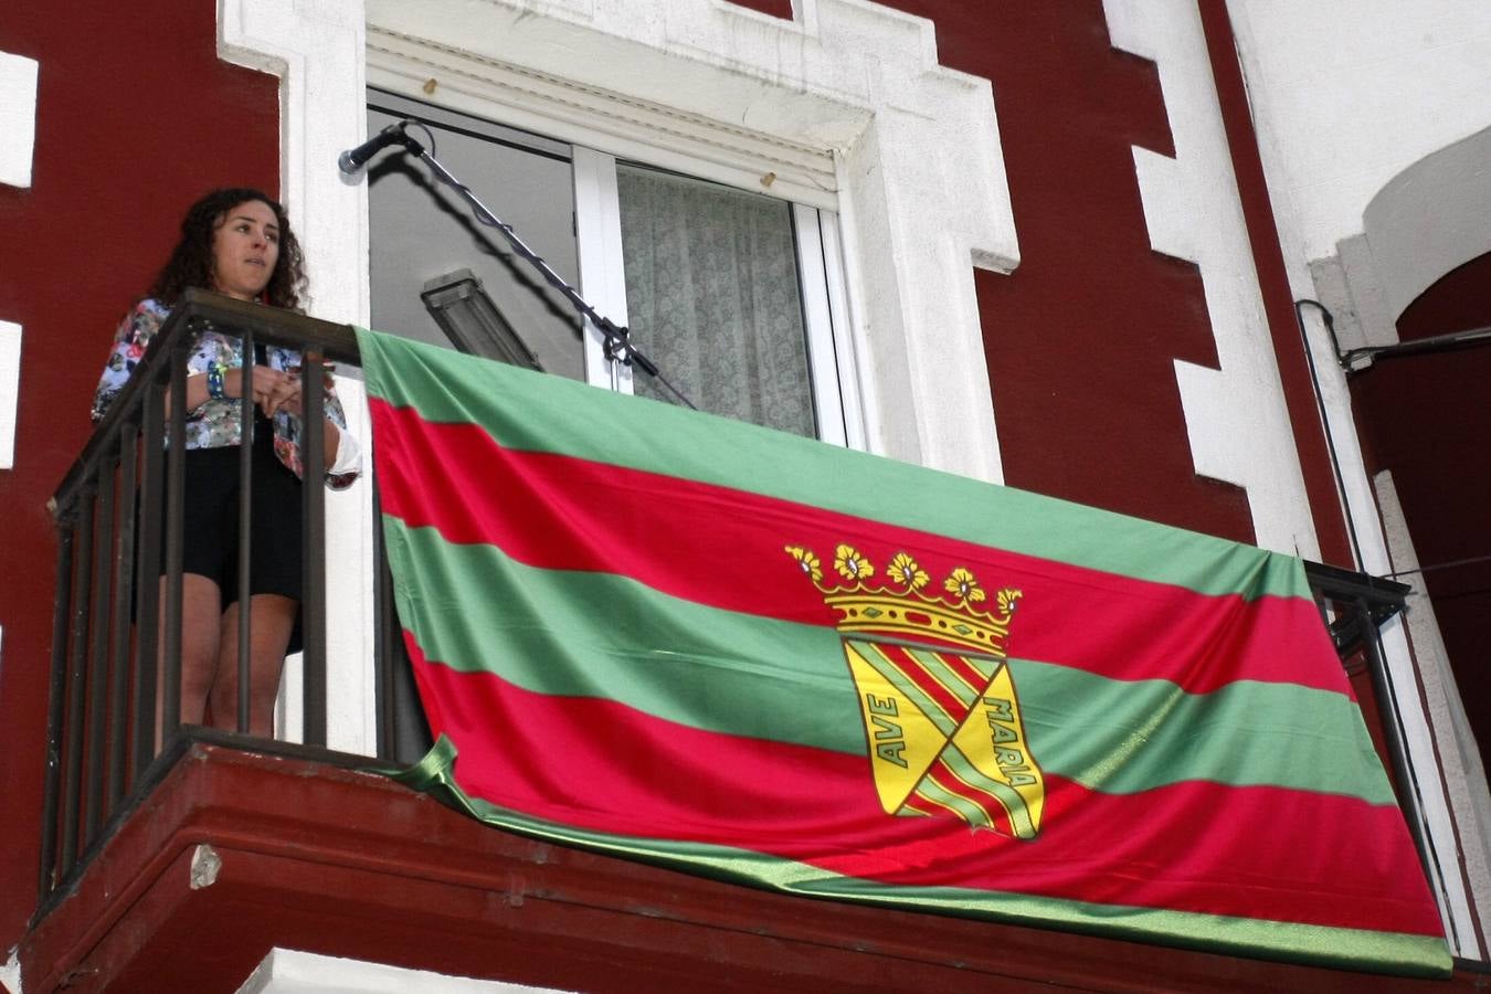
[[[432,660],[501,672],[537,693],[610,697],[690,727],[865,751],[833,629],[701,607],[626,577],[535,569],[492,545],[452,545],[432,528],[383,522],[400,620]],[[486,593],[434,602],[426,590]],[[504,650],[501,668],[494,645]]]

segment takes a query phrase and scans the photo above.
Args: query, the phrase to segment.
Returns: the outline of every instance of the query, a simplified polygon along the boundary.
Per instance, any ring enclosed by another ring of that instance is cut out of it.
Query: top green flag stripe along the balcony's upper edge
[[[359,331],[368,390],[502,446],[762,493],[1203,595],[1309,596],[1299,560]],[[394,371],[397,370],[397,376]],[[668,438],[668,446],[655,444]],[[844,486],[853,480],[854,486]],[[935,499],[927,499],[935,492]],[[1091,541],[1102,534],[1103,541]]]

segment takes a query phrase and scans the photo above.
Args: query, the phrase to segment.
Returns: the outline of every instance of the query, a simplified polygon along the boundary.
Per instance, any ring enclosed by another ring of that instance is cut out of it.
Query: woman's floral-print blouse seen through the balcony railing
[[[134,373],[134,367],[139,365],[140,358],[149,347],[151,340],[155,332],[161,329],[166,319],[170,317],[171,308],[158,300],[146,298],[134,306],[134,310],[125,314],[124,320],[119,323],[119,331],[113,337],[113,352],[109,353],[109,362],[104,365],[103,376],[98,379],[98,390],[94,393],[92,419],[98,422],[107,413],[109,407],[119,396],[124,384],[130,382],[130,374]],[[300,353],[294,349],[280,349],[279,346],[265,344],[264,359],[274,370],[292,370],[301,365]],[[207,373],[212,364],[221,362],[230,370],[236,370],[243,365],[243,343],[233,335],[225,335],[219,331],[207,329],[203,331],[192,352],[186,359],[186,376],[194,376],[200,373]],[[327,384],[327,420],[340,428],[343,432],[347,428],[347,419],[341,411],[341,402],[337,399],[335,390],[332,389],[331,374],[325,374]],[[300,456],[300,438],[301,438],[301,423],[300,417],[280,411],[274,416],[274,455],[282,463],[285,463],[297,477],[304,478],[304,471],[301,466]],[[197,410],[186,411],[186,447],[188,449],[222,449],[227,446],[237,446],[242,441],[240,435],[240,408],[239,398],[221,398],[209,399],[206,404]],[[341,490],[356,480],[358,474],[352,472],[343,474],[327,474],[327,486],[332,490]]]

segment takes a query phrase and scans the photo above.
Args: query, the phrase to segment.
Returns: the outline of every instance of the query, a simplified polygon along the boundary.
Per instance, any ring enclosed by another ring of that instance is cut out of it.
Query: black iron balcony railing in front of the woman
[[[185,507],[186,359],[197,337],[216,328],[255,343],[295,349],[304,370],[327,361],[359,365],[356,337],[288,311],[188,291],[155,335],[130,382],[109,408],[52,498],[58,529],[57,598],[43,787],[40,896],[64,887],[110,821],[148,787],[163,753],[179,753],[201,729],[182,726],[182,556]],[[306,425],[319,425],[325,407],[321,376],[303,377]],[[253,398],[239,416],[249,438]],[[304,431],[306,480],[321,480],[325,441]],[[250,493],[250,446],[240,446],[240,492]],[[370,469],[371,466],[364,466]],[[327,745],[327,583],[325,487],[301,490],[303,562],[303,744]],[[249,589],[252,508],[240,501],[239,589]],[[380,529],[374,529],[374,535]],[[380,572],[382,550],[377,548]],[[379,705],[392,703],[397,638],[382,629],[394,612],[382,584],[376,639]],[[236,733],[249,741],[252,611],[240,604]],[[154,621],[161,618],[160,623]],[[148,621],[149,620],[149,621]],[[222,723],[219,723],[222,724]],[[394,720],[380,715],[379,751],[392,742]],[[222,736],[215,736],[221,739]],[[261,739],[252,739],[264,747]]]

